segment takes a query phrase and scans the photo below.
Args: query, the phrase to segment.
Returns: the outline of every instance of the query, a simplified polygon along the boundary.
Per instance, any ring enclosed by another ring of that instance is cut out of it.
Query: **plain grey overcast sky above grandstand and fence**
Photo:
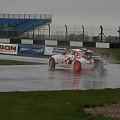
[[[52,14],[52,25],[120,25],[120,0],[0,0],[0,14]]]

